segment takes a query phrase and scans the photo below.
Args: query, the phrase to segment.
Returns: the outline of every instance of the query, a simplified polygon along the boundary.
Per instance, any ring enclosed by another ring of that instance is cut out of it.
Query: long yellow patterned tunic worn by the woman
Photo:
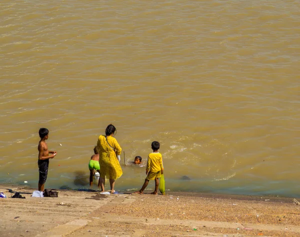
[[[115,149],[109,146],[109,144]],[[116,155],[121,153],[121,147],[113,136],[99,135],[97,146],[99,149],[100,177],[117,179],[122,175],[122,169]]]

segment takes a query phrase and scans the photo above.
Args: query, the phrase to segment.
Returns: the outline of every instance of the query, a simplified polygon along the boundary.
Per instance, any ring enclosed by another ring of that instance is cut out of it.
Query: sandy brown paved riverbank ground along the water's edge
[[[9,198],[19,191],[25,199]],[[110,194],[0,186],[1,236],[300,236],[293,198],[204,193]]]

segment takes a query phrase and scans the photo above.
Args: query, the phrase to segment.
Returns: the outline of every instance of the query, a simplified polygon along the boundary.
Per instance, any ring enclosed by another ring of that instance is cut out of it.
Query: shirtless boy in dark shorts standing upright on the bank
[[[47,179],[48,174],[48,167],[49,167],[49,159],[54,158],[57,154],[56,151],[48,150],[48,145],[46,143],[46,139],[49,137],[49,130],[47,128],[39,128],[38,131],[40,140],[38,142],[38,172],[39,172],[39,179],[38,179],[38,190],[43,191],[44,185]],[[49,155],[49,153],[51,155]]]

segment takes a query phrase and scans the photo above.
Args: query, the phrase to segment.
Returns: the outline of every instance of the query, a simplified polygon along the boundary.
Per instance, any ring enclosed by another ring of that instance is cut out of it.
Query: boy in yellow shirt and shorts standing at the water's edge
[[[162,156],[158,152],[159,146],[160,144],[156,140],[151,143],[151,148],[153,152],[149,153],[148,155],[147,166],[146,166],[147,176],[140,190],[136,191],[135,193],[142,194],[143,190],[148,185],[149,180],[155,180],[155,189],[153,192],[151,192],[151,194],[157,194],[157,189],[159,184],[158,178],[160,178],[160,174],[163,174]]]

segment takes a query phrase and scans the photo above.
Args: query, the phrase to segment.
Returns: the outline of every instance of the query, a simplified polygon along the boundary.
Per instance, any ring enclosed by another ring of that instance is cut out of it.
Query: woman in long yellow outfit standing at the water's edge
[[[97,147],[99,151],[100,164],[100,185],[101,191],[104,191],[105,178],[109,178],[110,192],[114,192],[114,181],[122,175],[122,169],[119,163],[121,147],[113,137],[115,127],[109,124],[105,129],[105,135],[99,135]]]

